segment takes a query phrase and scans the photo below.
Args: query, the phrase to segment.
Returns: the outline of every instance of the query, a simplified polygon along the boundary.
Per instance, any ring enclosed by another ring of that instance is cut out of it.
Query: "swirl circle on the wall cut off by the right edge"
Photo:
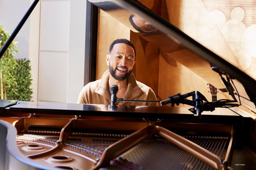
[[[256,24],[247,27],[241,36],[241,47],[256,57]]]

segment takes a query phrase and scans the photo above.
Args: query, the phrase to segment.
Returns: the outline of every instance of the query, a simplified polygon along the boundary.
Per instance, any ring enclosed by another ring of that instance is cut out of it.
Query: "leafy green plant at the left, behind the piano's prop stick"
[[[0,49],[10,37],[9,32],[0,26]],[[17,43],[12,42],[0,60],[1,99],[31,101],[32,89],[30,61],[14,58]]]

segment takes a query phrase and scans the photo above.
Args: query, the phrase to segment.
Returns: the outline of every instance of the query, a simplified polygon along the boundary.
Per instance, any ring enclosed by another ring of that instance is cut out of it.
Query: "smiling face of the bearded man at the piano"
[[[106,56],[110,74],[118,81],[123,81],[132,73],[135,54],[131,46],[118,43],[113,46],[110,55]]]

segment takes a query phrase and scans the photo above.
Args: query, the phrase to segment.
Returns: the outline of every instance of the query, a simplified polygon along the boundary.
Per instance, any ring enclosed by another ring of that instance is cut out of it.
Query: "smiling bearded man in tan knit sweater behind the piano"
[[[117,98],[124,100],[156,101],[154,91],[143,83],[135,80],[132,73],[135,64],[135,47],[129,40],[117,39],[112,42],[106,62],[108,70],[100,80],[88,83],[81,90],[77,103],[111,104],[110,87],[118,86]],[[116,104],[157,106],[155,102],[123,102]]]

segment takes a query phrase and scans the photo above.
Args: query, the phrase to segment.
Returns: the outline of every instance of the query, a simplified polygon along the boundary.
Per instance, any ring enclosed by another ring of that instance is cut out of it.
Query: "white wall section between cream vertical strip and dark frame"
[[[41,1],[38,101],[77,101],[84,82],[85,15],[85,0]]]

